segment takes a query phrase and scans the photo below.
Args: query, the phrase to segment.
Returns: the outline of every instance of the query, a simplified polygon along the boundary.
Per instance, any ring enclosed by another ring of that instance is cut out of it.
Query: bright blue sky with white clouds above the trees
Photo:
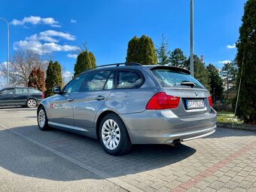
[[[127,42],[148,35],[155,47],[161,35],[169,49],[189,55],[189,0],[2,0],[0,17],[10,24],[10,52],[32,48],[52,52],[66,71],[73,72],[72,49],[87,42],[97,65],[124,62]],[[245,0],[194,0],[194,53],[218,68],[236,55],[233,44]],[[6,24],[0,22],[0,63],[6,61]],[[230,46],[229,46],[230,45]]]

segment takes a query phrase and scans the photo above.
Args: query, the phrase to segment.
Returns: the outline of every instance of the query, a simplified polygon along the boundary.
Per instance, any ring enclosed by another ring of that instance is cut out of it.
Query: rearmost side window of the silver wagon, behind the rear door
[[[120,71],[117,75],[117,89],[134,89],[142,85],[143,79],[136,72]]]

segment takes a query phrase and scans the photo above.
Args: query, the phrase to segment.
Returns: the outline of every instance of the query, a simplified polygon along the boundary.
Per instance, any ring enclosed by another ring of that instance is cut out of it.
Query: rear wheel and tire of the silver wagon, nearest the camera
[[[117,114],[107,114],[102,118],[99,140],[104,151],[114,156],[126,154],[133,146],[126,127]]]

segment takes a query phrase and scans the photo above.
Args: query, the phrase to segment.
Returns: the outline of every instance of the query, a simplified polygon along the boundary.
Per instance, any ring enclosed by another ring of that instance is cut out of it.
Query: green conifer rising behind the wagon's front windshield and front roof
[[[79,53],[77,62],[75,63],[75,67],[74,67],[74,71],[75,71],[74,76],[81,74],[81,72],[84,72],[84,70],[86,69],[92,68],[92,62],[91,62],[92,55],[93,54],[88,53],[87,50],[84,50],[81,53]]]

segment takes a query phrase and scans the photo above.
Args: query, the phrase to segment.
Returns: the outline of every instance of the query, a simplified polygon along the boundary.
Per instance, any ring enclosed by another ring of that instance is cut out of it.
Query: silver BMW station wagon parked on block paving
[[[99,139],[111,155],[125,154],[133,144],[175,145],[215,132],[209,91],[173,66],[98,66],[53,93],[38,105],[39,129]]]

